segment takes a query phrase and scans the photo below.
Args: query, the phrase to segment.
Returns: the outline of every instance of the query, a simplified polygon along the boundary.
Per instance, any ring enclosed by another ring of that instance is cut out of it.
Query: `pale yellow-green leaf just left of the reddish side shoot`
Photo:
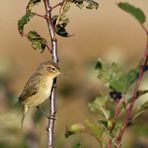
[[[106,109],[107,102],[108,98],[100,95],[92,103],[89,103],[88,106],[92,112],[98,112],[100,115],[103,115],[106,120],[108,120],[110,117],[110,111]]]

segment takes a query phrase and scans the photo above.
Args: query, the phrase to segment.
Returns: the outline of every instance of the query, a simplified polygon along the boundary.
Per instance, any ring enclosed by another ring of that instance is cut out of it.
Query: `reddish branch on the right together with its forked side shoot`
[[[136,84],[135,84],[135,87],[134,87],[134,90],[133,90],[133,95],[132,95],[132,98],[131,98],[131,101],[130,101],[128,107],[127,107],[127,104],[125,104],[125,102],[123,102],[123,105],[125,106],[125,109],[126,109],[126,113],[125,113],[125,117],[124,117],[124,120],[123,120],[123,125],[122,125],[121,129],[119,130],[119,133],[117,134],[117,136],[115,138],[114,146],[116,148],[121,147],[121,140],[122,140],[122,137],[123,137],[124,132],[126,130],[126,127],[128,125],[129,118],[130,118],[134,103],[137,99],[137,92],[138,92],[138,89],[140,87],[142,77],[143,77],[143,73],[144,73],[144,68],[145,68],[145,66],[147,64],[147,60],[148,60],[148,30],[145,28],[145,26],[143,24],[141,24],[141,26],[142,26],[142,29],[144,30],[144,32],[146,33],[146,36],[147,36],[146,49],[145,49],[145,52],[144,52],[144,55],[143,55],[142,63],[141,63],[140,68],[139,68],[139,74],[138,74],[138,78],[137,78],[137,81],[136,81]],[[119,102],[115,101],[115,104],[114,104],[114,119],[116,119],[117,115],[118,115],[118,103]],[[108,144],[107,144],[107,148],[112,147],[112,142],[113,142],[113,138],[110,138],[109,141],[108,141]]]

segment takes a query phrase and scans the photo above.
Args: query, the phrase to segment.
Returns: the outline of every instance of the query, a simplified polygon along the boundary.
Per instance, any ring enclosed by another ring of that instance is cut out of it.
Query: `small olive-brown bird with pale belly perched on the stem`
[[[26,113],[31,107],[38,107],[42,102],[50,97],[53,80],[60,72],[59,66],[51,61],[40,64],[36,72],[27,81],[19,102],[22,105],[21,127]]]

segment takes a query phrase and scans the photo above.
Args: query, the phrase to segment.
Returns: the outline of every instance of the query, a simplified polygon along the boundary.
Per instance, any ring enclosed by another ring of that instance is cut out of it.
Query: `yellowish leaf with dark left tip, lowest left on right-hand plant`
[[[68,138],[69,136],[83,132],[85,130],[85,126],[81,123],[73,124],[70,127],[67,127],[65,132],[65,137]]]

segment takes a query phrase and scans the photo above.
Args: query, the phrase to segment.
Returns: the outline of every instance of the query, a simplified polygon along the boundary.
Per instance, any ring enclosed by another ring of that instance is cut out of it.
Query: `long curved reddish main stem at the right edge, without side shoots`
[[[133,90],[133,96],[132,96],[131,102],[130,102],[127,110],[126,110],[123,126],[120,129],[120,131],[119,131],[119,133],[118,133],[118,135],[117,135],[117,137],[115,139],[116,143],[118,144],[116,146],[116,148],[119,148],[120,145],[121,145],[121,140],[122,140],[123,134],[124,134],[125,129],[127,127],[127,124],[128,124],[128,121],[129,121],[129,118],[130,118],[134,103],[135,103],[135,101],[137,99],[137,92],[138,92],[138,89],[139,89],[141,81],[142,81],[142,77],[143,77],[143,73],[144,73],[144,67],[145,67],[145,65],[147,63],[147,60],[148,60],[148,30],[145,28],[145,26],[143,24],[141,24],[141,26],[142,26],[143,30],[145,31],[145,33],[147,35],[146,49],[145,49],[145,53],[144,53],[144,56],[143,56],[142,64],[141,64],[141,66],[139,68],[139,75],[138,75],[138,79],[137,79],[136,84],[135,84],[135,88]]]

